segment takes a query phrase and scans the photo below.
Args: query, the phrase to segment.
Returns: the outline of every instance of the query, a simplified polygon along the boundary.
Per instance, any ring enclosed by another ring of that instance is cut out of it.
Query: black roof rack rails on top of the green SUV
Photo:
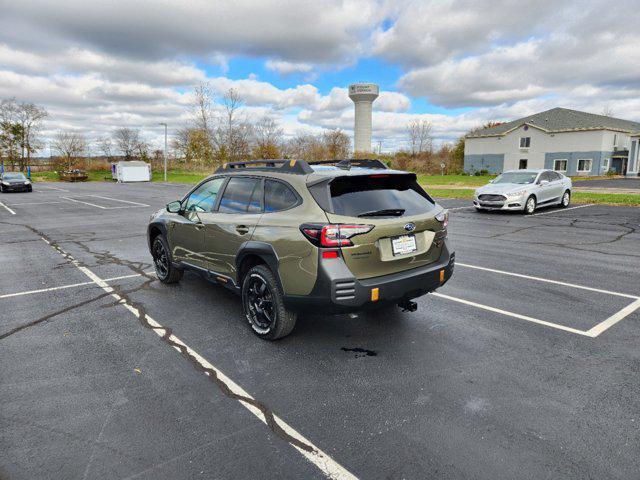
[[[318,160],[306,162],[304,160],[249,160],[246,162],[229,162],[218,167],[215,173],[224,173],[232,170],[250,171],[277,171],[279,173],[294,173],[308,175],[314,170],[311,165],[335,165],[338,168],[349,170],[351,167],[385,169],[387,166],[380,160],[366,158],[350,158],[342,160]]]

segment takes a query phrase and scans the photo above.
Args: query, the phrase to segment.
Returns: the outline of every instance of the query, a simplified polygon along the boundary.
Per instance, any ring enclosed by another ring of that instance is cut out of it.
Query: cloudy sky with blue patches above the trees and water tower
[[[231,87],[287,134],[353,126],[376,82],[374,141],[423,118],[448,141],[555,106],[640,121],[637,0],[0,0],[0,98],[45,106],[46,134],[119,126],[160,145],[190,90]]]

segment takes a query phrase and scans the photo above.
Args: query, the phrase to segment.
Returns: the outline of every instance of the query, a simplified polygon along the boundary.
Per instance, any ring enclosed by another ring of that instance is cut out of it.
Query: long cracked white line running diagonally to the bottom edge
[[[174,348],[182,352],[183,350],[189,356],[189,359],[193,362],[197,362],[202,368],[209,370],[215,374],[215,378],[222,382],[232,394],[237,397],[244,397],[248,401],[255,402],[255,399],[249,395],[249,393],[244,390],[240,385],[235,383],[231,378],[227,377],[220,369],[211,364],[208,360],[202,357],[198,352],[189,347],[186,343],[184,343],[180,338],[176,335],[170,333],[170,330],[163,327],[161,324],[156,322],[150,315],[146,313],[140,312],[137,308],[131,305],[125,298],[115,293],[112,287],[98,275],[93,273],[89,268],[84,267],[78,262],[71,254],[65,252],[61,247],[57,245],[52,245],[46,238],[40,237],[44,242],[54,248],[58,253],[60,253],[63,257],[70,260],[71,263],[82,273],[84,273],[89,279],[102,288],[106,293],[111,294],[111,296],[122,305],[124,308],[129,310],[135,317],[139,319],[144,319],[144,321],[150,326],[150,328],[161,338],[165,339],[174,345]],[[144,315],[144,316],[143,316]],[[205,375],[210,377],[209,372],[206,372]],[[238,398],[237,401],[249,410],[253,415],[255,415],[260,421],[264,424],[268,424],[269,421],[262,411],[256,407],[255,405],[248,403],[247,401],[243,401],[242,398]],[[327,455],[325,452],[320,450],[317,446],[311,443],[310,440],[305,438],[301,433],[296,431],[293,427],[287,424],[284,420],[282,420],[277,415],[273,414],[272,420],[292,439],[294,439],[299,445],[296,443],[290,442],[290,445],[294,447],[300,454],[302,454],[307,460],[309,460],[313,465],[315,465],[325,476],[331,479],[346,479],[346,480],[356,480],[351,472],[345,469],[342,465],[336,462],[333,458]],[[306,448],[303,448],[306,447]]]

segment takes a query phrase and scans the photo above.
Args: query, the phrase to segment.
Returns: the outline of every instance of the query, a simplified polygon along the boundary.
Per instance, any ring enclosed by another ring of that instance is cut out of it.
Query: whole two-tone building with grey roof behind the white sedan
[[[566,175],[638,175],[640,123],[566,108],[476,130],[465,137],[464,169],[549,168]]]

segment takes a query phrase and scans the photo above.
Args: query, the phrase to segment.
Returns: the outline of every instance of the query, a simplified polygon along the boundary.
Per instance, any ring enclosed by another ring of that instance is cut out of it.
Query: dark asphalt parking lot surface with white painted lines
[[[269,343],[151,273],[148,217],[187,189],[0,196],[3,480],[637,478],[640,209],[443,200],[456,271],[417,312]]]

